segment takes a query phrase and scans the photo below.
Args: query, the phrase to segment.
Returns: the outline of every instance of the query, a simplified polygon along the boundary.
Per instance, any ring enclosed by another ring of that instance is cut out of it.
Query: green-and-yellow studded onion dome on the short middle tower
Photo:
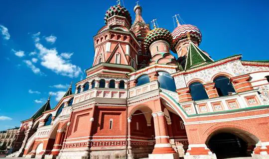
[[[145,50],[147,51],[147,49],[149,48],[150,44],[153,42],[153,41],[156,41],[156,40],[165,40],[169,43],[170,45],[170,49],[174,51],[174,48],[173,48],[173,38],[170,34],[170,31],[167,30],[167,29],[163,29],[163,28],[155,28],[153,30],[150,30],[147,34],[146,34],[146,37],[144,39],[144,48]]]

